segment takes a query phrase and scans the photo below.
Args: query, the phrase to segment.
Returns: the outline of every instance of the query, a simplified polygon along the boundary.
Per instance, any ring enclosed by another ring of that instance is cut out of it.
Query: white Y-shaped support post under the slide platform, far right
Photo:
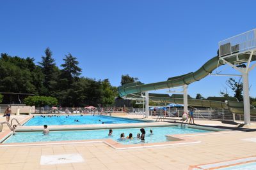
[[[255,64],[253,64],[252,67],[250,67],[250,62],[252,60],[252,55],[253,55],[254,50],[251,51],[250,57],[247,61],[247,66],[245,68],[239,68],[235,66],[234,64],[228,62],[225,59],[220,58],[223,60],[223,62],[227,63],[229,66],[233,67],[240,73],[242,73],[242,78],[243,78],[243,103],[244,103],[244,124],[245,125],[250,125],[251,123],[251,113],[250,113],[250,96],[249,96],[249,78],[248,74],[252,69],[255,67]]]

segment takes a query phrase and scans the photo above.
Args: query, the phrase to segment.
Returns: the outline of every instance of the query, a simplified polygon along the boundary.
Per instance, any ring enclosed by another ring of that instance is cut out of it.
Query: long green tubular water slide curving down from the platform
[[[235,55],[232,57],[228,57],[228,59],[226,60],[231,64],[236,64],[237,61],[239,61],[239,64],[241,64],[243,63],[243,61],[246,62],[249,59],[249,57],[249,54],[243,54],[238,56]],[[255,60],[256,55],[253,55],[252,61]],[[168,78],[168,80],[166,81],[161,81],[157,83],[144,84],[140,81],[136,83],[128,83],[118,87],[118,93],[123,98],[132,98],[134,96],[140,96],[139,94],[141,92],[169,89],[173,87],[180,87],[182,85],[189,85],[190,83],[205,78],[205,76],[211,74],[212,71],[214,71],[214,69],[224,64],[225,63],[222,60],[219,60],[219,57],[216,56],[213,57],[211,60],[208,60],[202,67],[200,67],[200,69],[198,69],[195,72]],[[149,95],[149,99],[159,103],[183,104],[183,98],[170,97],[168,94],[165,94],[165,96]],[[243,103],[237,101],[228,101],[227,103],[225,103],[223,101],[188,99],[188,104],[191,106],[200,107],[225,108],[232,111],[232,113],[243,114]],[[252,108],[251,114],[256,115],[256,110]]]

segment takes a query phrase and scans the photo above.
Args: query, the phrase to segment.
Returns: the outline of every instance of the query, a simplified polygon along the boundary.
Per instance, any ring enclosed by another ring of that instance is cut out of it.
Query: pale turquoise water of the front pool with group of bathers
[[[150,135],[150,129],[153,134]],[[145,128],[145,143],[157,143],[165,142],[166,134],[191,134],[199,132],[209,132],[199,129],[192,129],[180,126],[172,127],[146,127]],[[90,131],[55,131],[50,134],[44,135],[42,132],[17,132],[15,135],[8,138],[4,143],[31,143],[38,141],[67,141],[67,140],[84,140],[84,139],[107,139],[111,138],[123,144],[135,144],[141,141],[136,138],[137,134],[140,133],[140,128],[129,128],[129,129],[113,129],[112,136],[108,136],[108,129],[102,130],[90,130]],[[120,134],[124,133],[125,137],[132,133],[134,139],[120,140]]]

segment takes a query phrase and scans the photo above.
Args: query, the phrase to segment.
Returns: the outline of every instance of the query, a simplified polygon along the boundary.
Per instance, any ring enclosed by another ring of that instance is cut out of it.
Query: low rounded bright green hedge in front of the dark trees
[[[29,106],[56,106],[58,100],[55,97],[29,96],[24,99],[24,103]]]

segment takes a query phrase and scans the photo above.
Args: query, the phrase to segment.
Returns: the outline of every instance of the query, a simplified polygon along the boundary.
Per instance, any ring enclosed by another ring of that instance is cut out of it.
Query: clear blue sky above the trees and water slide
[[[39,62],[49,46],[60,66],[70,52],[83,76],[109,78],[115,86],[122,74],[153,83],[196,71],[216,55],[218,41],[256,27],[255,1],[24,0],[0,5],[1,53]],[[249,80],[253,97],[255,75],[256,69]],[[189,85],[188,92],[219,96],[227,79],[207,76]]]

